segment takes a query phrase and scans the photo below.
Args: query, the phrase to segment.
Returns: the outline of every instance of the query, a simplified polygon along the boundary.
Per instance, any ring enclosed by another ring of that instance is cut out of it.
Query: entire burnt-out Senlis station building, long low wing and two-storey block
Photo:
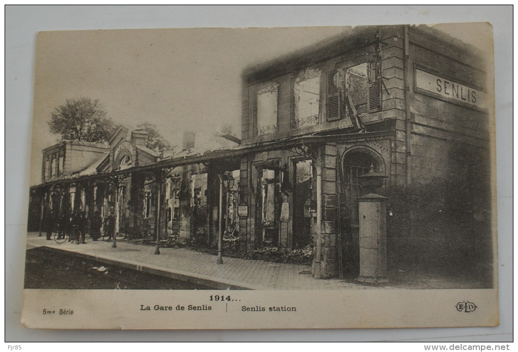
[[[115,209],[128,238],[307,249],[315,278],[487,274],[486,71],[476,49],[429,27],[355,27],[246,69],[240,139],[187,133],[167,155],[121,127],[107,144],[44,150],[30,230],[75,204],[87,218]]]

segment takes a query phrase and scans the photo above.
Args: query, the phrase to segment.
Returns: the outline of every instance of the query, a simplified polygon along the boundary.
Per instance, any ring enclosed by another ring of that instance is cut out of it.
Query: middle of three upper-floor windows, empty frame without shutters
[[[310,71],[295,80],[295,119],[293,128],[299,129],[319,123],[320,73]]]

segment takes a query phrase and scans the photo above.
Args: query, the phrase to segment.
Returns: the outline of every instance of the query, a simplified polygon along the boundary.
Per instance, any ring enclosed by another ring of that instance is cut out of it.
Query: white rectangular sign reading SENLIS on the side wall
[[[420,69],[415,70],[415,86],[426,92],[438,94],[442,98],[477,107],[483,107],[485,100],[485,93],[479,89],[462,85]]]

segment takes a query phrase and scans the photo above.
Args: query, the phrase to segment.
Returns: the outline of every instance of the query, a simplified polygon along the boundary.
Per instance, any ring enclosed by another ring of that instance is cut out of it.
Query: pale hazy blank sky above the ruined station
[[[438,26],[470,41],[467,26]],[[244,68],[309,46],[348,27],[40,32],[37,38],[31,185],[41,150],[60,139],[47,121],[67,99],[98,99],[130,130],[156,124],[172,145],[185,130],[208,138],[223,125],[240,136]],[[479,38],[480,39],[480,38]],[[471,40],[473,41],[473,40]],[[477,44],[473,41],[472,44]]]

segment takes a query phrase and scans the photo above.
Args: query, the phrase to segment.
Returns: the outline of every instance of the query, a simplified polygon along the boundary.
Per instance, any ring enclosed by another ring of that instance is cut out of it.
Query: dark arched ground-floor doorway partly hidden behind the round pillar
[[[385,162],[375,150],[359,146],[343,153],[339,170],[339,242],[343,273],[350,278],[359,274],[358,197],[367,192],[360,176],[367,174],[371,167],[385,174]]]

